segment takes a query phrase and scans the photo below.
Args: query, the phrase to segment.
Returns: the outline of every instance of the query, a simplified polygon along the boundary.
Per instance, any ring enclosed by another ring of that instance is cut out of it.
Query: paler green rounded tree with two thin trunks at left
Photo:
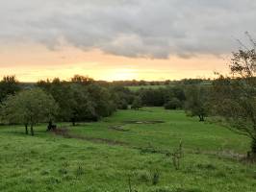
[[[1,116],[8,123],[23,124],[26,134],[30,126],[31,135],[34,135],[34,126],[38,122],[52,121],[57,110],[53,97],[35,88],[8,96],[1,105]]]

